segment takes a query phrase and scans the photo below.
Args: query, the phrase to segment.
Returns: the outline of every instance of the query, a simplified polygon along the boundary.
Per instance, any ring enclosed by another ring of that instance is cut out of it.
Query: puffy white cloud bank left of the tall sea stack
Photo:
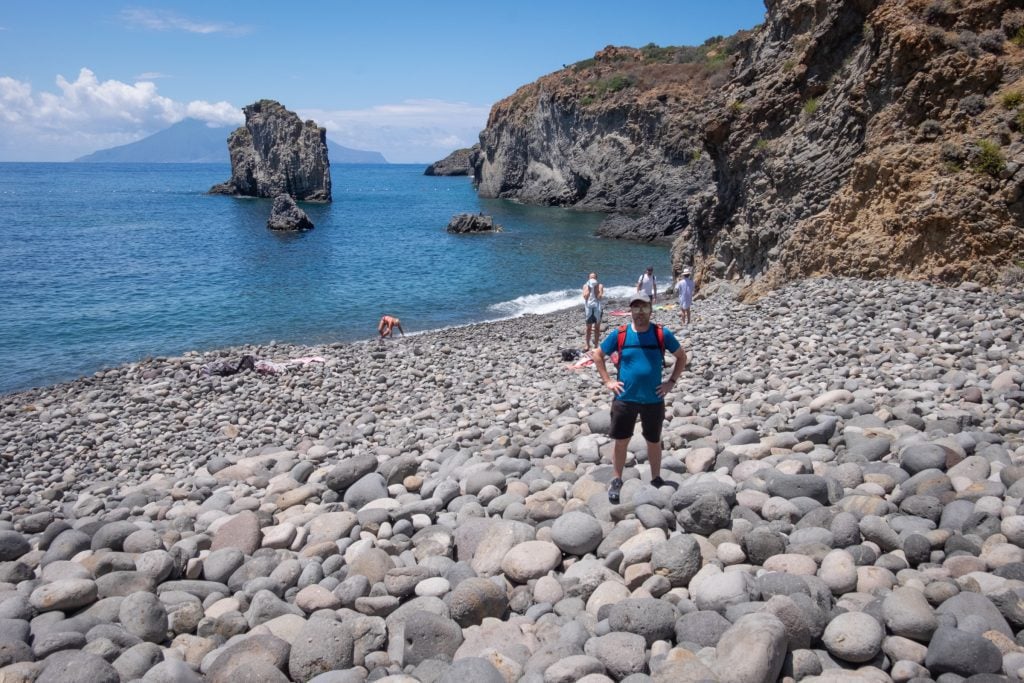
[[[228,102],[178,102],[150,81],[99,81],[82,69],[75,81],[57,76],[59,92],[33,92],[30,83],[0,77],[0,159],[68,161],[125,144],[191,117],[238,125],[241,110]]]

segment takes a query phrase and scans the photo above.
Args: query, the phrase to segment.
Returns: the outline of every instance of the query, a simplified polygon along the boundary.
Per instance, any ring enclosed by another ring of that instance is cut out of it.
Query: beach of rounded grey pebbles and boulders
[[[0,682],[1024,678],[1024,293],[654,321],[668,485],[637,433],[618,505],[582,307],[0,396]]]

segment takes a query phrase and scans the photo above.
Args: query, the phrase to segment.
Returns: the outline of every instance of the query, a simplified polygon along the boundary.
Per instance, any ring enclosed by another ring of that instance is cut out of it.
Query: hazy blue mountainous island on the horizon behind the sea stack
[[[120,164],[227,164],[227,136],[236,126],[211,128],[185,119],[141,140],[79,157],[76,162]],[[379,152],[367,152],[327,141],[332,164],[386,164]]]

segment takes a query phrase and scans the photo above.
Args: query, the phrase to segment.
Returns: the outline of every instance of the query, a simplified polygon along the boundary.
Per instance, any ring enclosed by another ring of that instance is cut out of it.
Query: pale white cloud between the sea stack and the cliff
[[[433,162],[478,141],[489,108],[411,99],[361,110],[302,110],[335,142],[380,152],[393,163]]]

